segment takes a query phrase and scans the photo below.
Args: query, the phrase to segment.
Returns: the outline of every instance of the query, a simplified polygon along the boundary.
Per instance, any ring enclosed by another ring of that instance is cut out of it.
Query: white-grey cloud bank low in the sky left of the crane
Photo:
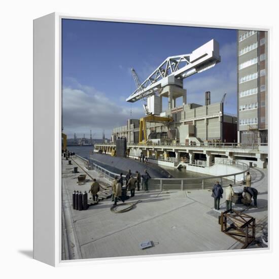
[[[93,87],[83,86],[76,80],[69,80],[71,86],[62,90],[62,121],[64,132],[72,137],[76,133],[96,133],[101,137],[102,130],[106,136],[111,136],[111,131],[116,126],[122,126],[130,118],[130,109],[113,102],[104,93]],[[132,117],[140,118],[143,110],[133,108]]]

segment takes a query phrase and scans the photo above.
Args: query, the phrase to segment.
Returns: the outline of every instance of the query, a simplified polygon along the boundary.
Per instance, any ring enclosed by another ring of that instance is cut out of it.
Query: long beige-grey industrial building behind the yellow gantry
[[[236,116],[223,113],[223,103],[201,106],[185,103],[183,106],[167,109],[162,113],[172,117],[171,123],[147,123],[150,142],[166,143],[176,141],[190,144],[203,142],[236,142]],[[112,141],[126,137],[127,143],[138,143],[140,120],[128,119],[127,125],[113,129]]]

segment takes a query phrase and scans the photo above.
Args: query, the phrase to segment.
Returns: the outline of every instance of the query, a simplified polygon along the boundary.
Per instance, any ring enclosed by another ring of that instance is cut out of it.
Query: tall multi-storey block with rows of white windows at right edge
[[[267,143],[267,32],[237,31],[238,142]]]

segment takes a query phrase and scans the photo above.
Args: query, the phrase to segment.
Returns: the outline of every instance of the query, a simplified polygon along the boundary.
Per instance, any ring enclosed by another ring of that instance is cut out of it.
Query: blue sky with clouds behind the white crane
[[[236,113],[236,30],[117,23],[105,21],[62,21],[62,107],[63,127],[95,138],[102,130],[110,137],[113,127],[127,118],[144,116],[141,102],[127,103],[135,84],[130,68],[143,81],[168,56],[191,53],[215,39],[221,63],[184,80],[187,102],[204,104],[204,92],[213,102],[224,93],[225,112]]]

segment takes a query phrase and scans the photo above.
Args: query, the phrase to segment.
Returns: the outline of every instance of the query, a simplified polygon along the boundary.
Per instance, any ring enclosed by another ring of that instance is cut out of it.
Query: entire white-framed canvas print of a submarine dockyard
[[[268,28],[34,20],[34,258],[270,249]]]

